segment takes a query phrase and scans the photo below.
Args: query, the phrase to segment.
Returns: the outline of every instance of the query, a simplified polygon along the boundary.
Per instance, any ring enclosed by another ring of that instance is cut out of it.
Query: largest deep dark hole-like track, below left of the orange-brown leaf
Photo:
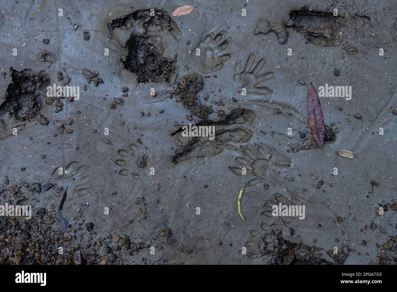
[[[178,41],[181,31],[166,11],[154,8],[151,16],[150,9],[137,10],[114,19],[107,26],[111,37],[128,49],[122,61],[127,70],[135,73],[138,83],[174,83],[177,54],[172,59],[162,56],[162,32],[170,33]]]

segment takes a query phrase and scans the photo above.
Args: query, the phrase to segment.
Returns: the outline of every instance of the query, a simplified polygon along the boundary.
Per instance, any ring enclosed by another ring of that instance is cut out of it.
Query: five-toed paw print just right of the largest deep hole
[[[210,33],[206,35],[200,45],[202,65],[207,73],[216,72],[224,68],[225,62],[231,58],[233,53],[225,52],[231,37],[225,39],[226,31],[220,31],[218,34]]]

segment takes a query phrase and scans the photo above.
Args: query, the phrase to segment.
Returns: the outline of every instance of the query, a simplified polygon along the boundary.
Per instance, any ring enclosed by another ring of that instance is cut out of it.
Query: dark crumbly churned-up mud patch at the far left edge
[[[32,120],[40,114],[44,101],[51,104],[53,101],[46,97],[46,87],[50,85],[50,77],[44,72],[32,73],[25,69],[21,72],[13,70],[12,81],[6,91],[5,102],[0,110],[15,118]],[[48,123],[48,122],[47,122]]]

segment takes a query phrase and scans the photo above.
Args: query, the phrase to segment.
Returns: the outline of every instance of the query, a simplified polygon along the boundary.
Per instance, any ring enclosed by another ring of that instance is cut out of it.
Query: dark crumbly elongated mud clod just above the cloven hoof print
[[[206,119],[213,110],[212,106],[200,104],[197,93],[202,89],[202,85],[204,85],[202,77],[197,73],[184,75],[179,80],[173,94],[176,95],[176,102],[182,102],[183,106],[189,108],[192,114]]]

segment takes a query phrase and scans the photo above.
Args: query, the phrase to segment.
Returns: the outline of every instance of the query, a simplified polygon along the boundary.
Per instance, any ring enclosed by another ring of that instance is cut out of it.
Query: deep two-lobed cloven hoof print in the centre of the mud
[[[177,164],[191,158],[218,155],[228,142],[248,142],[252,133],[243,125],[252,124],[255,117],[256,115],[251,110],[236,108],[218,122],[207,120],[195,124],[195,126],[215,126],[214,140],[209,140],[208,137],[183,137],[182,128],[179,128],[172,133],[177,149],[171,161]]]

